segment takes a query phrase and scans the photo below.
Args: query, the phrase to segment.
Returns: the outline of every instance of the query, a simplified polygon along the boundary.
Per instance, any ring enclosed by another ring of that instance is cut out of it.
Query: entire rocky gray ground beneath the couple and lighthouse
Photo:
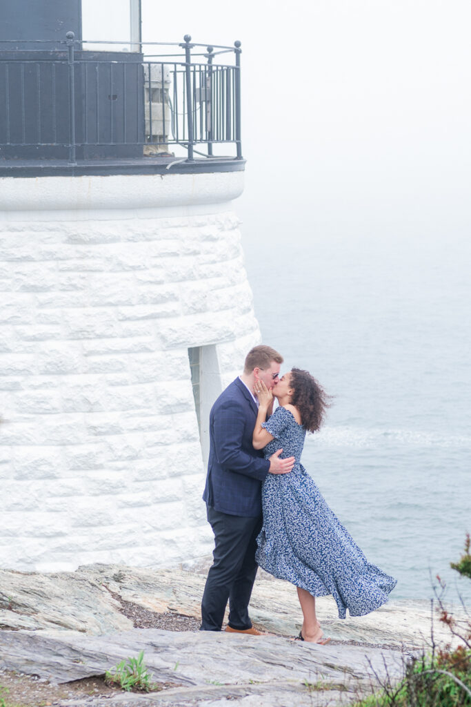
[[[6,706],[285,707],[352,703],[398,679],[430,640],[428,602],[390,602],[341,621],[318,601],[326,646],[290,640],[301,613],[291,585],[258,578],[251,602],[261,638],[201,633],[205,573],[95,565],[74,573],[0,571],[0,693]],[[434,623],[435,641],[449,639]],[[145,651],[159,691],[124,694],[103,675]]]

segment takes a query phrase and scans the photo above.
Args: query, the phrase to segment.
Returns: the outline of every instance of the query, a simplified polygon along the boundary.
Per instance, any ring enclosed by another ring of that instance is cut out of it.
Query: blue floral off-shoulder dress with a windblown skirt
[[[290,474],[268,474],[256,561],[314,597],[333,595],[340,619],[362,616],[388,600],[396,580],[370,564],[300,463],[306,431],[284,407],[263,423],[273,435],[265,457],[282,448],[295,457]]]

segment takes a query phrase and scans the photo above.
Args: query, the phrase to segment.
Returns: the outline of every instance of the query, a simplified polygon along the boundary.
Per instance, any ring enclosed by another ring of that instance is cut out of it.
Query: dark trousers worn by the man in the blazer
[[[221,513],[207,506],[215,536],[213,566],[208,572],[201,602],[201,631],[220,631],[229,600],[229,626],[237,631],[251,628],[249,601],[258,569],[256,537],[262,518]]]

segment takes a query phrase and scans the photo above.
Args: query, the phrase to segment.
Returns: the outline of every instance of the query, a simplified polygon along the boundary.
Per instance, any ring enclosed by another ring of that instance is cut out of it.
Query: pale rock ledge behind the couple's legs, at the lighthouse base
[[[179,568],[153,570],[90,565],[71,573],[0,570],[0,629],[71,629],[100,635],[133,628],[121,614],[119,599],[153,612],[199,617],[205,573]],[[390,601],[366,617],[339,619],[332,597],[318,598],[324,631],[336,641],[392,646],[427,645],[431,606],[427,601]],[[459,612],[458,612],[459,614]],[[259,573],[251,617],[271,633],[294,636],[302,614],[297,593],[287,582]],[[435,641],[448,642],[445,626],[434,621]]]

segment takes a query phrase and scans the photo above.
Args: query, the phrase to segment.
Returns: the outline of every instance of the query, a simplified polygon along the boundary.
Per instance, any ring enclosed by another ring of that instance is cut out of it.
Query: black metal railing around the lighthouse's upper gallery
[[[83,49],[72,32],[59,49],[0,51],[0,157],[214,156],[242,159],[240,42],[206,47],[145,43],[145,54]],[[90,42],[90,44],[99,44]],[[23,40],[24,46],[24,40]],[[6,47],[6,48],[5,48]],[[151,53],[157,51],[158,53]]]

